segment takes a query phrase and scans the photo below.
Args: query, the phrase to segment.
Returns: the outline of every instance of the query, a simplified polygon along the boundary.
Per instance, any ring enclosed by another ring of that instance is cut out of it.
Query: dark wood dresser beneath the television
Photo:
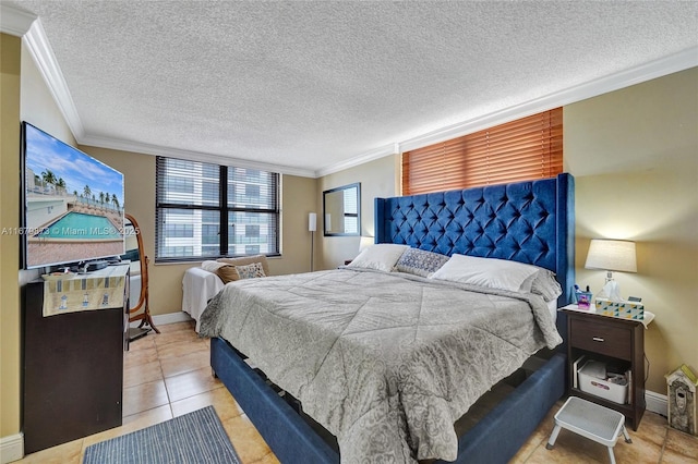
[[[45,317],[44,281],[23,288],[26,454],[121,425],[128,295],[127,272],[123,306]]]

